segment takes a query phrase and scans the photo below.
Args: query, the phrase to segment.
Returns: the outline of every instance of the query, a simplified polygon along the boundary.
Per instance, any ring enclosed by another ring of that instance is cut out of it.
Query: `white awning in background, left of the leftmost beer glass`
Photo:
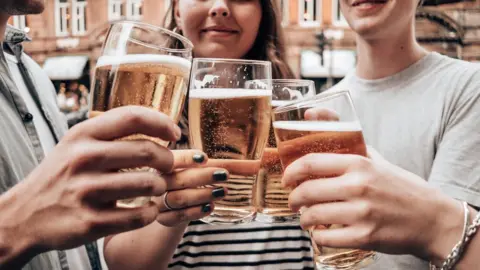
[[[45,60],[43,69],[51,80],[78,80],[88,62],[88,56],[56,56]]]

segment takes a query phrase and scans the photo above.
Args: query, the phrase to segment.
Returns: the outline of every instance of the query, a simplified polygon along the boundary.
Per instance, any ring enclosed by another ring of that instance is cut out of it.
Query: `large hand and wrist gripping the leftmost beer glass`
[[[161,196],[178,183],[149,172],[117,171],[146,166],[168,173],[174,156],[153,142],[115,139],[141,133],[173,141],[179,133],[174,127],[166,115],[124,107],[70,130],[37,168],[0,196],[0,269],[18,269],[42,252],[152,223],[155,204],[119,209],[115,201]]]

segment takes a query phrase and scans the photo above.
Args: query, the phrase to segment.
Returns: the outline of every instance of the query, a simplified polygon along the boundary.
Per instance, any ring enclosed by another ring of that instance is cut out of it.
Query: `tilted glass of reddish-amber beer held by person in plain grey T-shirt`
[[[310,153],[367,156],[362,128],[348,91],[324,94],[279,107],[274,111],[273,127],[284,168]],[[316,177],[311,176],[311,179]],[[309,231],[342,226],[325,224]],[[313,241],[312,245],[317,269],[361,269],[375,259],[372,251],[317,246]]]

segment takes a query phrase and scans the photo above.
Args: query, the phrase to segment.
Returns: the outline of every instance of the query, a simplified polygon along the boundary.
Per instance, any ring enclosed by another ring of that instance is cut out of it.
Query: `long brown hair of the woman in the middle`
[[[174,5],[172,1],[169,8],[170,16],[165,17],[164,27],[169,30],[177,29]],[[279,16],[276,0],[260,0],[262,7],[262,20],[257,38],[250,51],[243,57],[250,60],[263,60],[272,62],[272,77],[274,79],[293,79],[295,75],[287,64],[285,38]],[[179,46],[179,45],[177,45]]]

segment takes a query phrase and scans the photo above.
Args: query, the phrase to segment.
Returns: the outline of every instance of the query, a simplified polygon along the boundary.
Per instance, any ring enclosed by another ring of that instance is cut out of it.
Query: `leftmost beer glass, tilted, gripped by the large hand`
[[[98,59],[93,79],[89,117],[113,108],[137,105],[162,112],[178,122],[188,90],[192,43],[153,25],[122,21],[114,23]],[[121,140],[168,142],[137,134]],[[149,170],[152,168],[122,171]],[[150,198],[117,202],[119,207],[138,207]]]

